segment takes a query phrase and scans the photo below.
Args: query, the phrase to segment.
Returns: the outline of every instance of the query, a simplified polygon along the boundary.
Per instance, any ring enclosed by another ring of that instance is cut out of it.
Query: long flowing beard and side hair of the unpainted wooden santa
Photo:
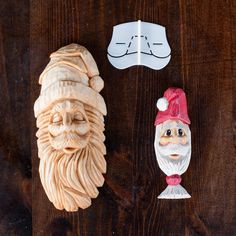
[[[103,116],[91,107],[85,107],[90,122],[90,137],[86,147],[72,154],[51,146],[49,111],[37,118],[40,178],[49,200],[60,210],[87,208],[91,205],[91,198],[98,195],[97,187],[104,183],[102,174],[106,172],[106,148],[103,143]]]

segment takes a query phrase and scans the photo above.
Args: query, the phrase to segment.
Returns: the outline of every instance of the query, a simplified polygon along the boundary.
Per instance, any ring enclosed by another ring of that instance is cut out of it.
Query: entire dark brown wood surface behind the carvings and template
[[[7,0],[0,10],[0,235],[236,235],[234,0]],[[160,71],[107,60],[112,27],[138,19],[167,29],[172,58]],[[33,104],[49,54],[72,42],[88,48],[105,81],[108,171],[92,206],[67,213],[40,183]],[[192,122],[188,200],[157,199],[166,183],[155,104],[170,86],[185,90]]]

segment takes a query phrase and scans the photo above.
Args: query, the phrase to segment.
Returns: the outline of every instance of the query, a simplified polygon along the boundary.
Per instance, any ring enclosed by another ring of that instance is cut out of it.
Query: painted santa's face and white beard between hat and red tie
[[[167,120],[156,126],[157,161],[166,175],[183,174],[191,157],[191,132],[180,120]]]

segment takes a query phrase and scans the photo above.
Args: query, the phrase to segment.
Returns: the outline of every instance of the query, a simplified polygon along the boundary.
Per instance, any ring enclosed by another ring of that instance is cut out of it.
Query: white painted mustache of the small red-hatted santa
[[[170,156],[172,154],[186,156],[189,152],[189,148],[189,144],[182,145],[170,143],[165,146],[161,146],[160,144],[158,145],[159,152],[162,156]]]

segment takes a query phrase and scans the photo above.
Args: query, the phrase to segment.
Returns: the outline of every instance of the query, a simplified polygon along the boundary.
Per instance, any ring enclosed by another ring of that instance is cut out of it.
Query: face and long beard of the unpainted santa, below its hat
[[[87,208],[106,172],[103,115],[78,100],[58,101],[37,118],[39,174],[57,209]]]

